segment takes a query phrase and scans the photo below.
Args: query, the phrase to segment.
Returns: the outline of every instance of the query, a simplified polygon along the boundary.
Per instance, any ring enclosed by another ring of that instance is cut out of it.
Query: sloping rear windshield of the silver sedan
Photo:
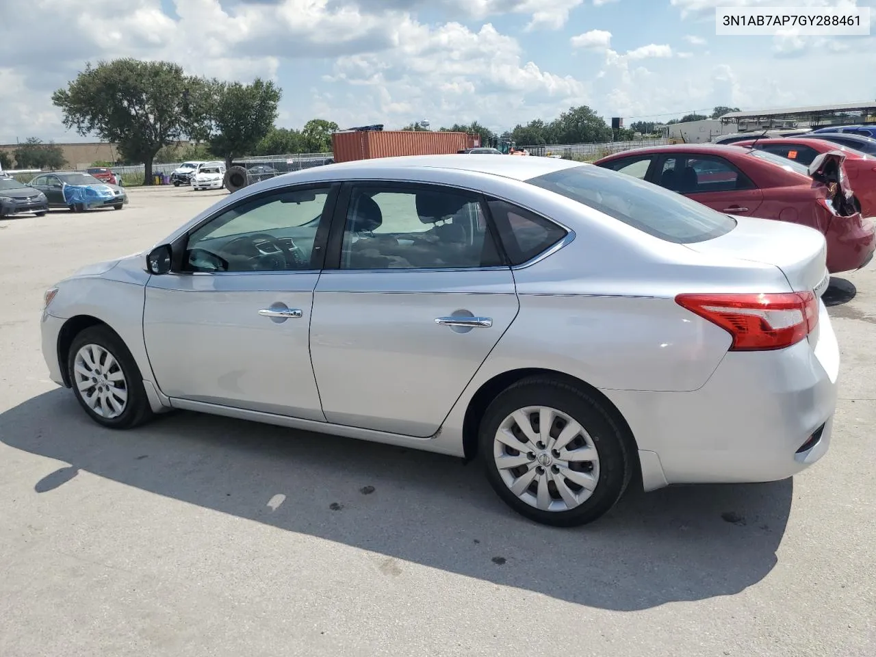
[[[704,242],[736,227],[731,216],[682,194],[600,166],[573,166],[526,182],[675,244]]]

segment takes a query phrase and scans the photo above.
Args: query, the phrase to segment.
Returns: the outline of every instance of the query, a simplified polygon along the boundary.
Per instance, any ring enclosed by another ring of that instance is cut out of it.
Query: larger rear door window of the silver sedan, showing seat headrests
[[[477,198],[455,190],[354,187],[342,269],[467,269],[501,265]]]

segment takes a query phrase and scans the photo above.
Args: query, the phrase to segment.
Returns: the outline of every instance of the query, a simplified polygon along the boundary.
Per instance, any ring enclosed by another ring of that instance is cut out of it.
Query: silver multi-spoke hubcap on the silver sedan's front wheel
[[[116,357],[99,344],[86,344],[73,361],[76,388],[95,415],[112,420],[128,405],[128,382]]]

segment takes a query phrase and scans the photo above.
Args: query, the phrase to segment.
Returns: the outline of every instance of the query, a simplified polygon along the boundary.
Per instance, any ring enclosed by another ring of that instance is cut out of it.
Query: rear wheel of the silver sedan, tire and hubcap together
[[[625,435],[597,399],[552,378],[526,378],[484,413],[487,479],[515,511],[578,526],[617,504],[632,475]]]

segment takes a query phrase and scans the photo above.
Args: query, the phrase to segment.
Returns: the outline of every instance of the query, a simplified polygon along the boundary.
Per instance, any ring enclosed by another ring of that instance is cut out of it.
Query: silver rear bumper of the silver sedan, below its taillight
[[[603,392],[639,450],[656,455],[666,484],[791,477],[830,447],[839,347],[823,304],[819,324],[815,349],[803,340],[785,350],[729,352],[694,392]],[[651,478],[646,488],[661,484]]]

